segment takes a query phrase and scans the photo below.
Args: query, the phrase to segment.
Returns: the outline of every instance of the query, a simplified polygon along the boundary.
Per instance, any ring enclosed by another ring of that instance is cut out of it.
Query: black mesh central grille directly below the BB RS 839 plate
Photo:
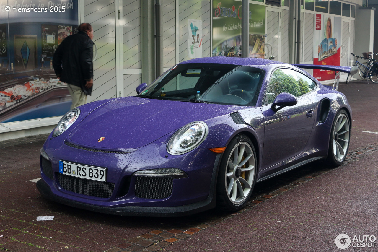
[[[114,191],[114,183],[81,179],[60,173],[56,174],[59,184],[62,186],[62,188],[73,193],[79,193],[98,198],[110,198]]]

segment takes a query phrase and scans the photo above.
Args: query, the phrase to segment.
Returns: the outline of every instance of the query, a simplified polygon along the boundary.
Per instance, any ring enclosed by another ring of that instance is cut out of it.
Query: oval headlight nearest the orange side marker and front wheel
[[[179,129],[169,140],[167,151],[172,155],[184,154],[191,151],[208,136],[209,128],[203,121],[189,123]]]

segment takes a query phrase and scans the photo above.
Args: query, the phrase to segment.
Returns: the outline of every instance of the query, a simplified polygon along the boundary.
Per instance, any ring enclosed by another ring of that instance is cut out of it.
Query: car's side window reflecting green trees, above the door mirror
[[[287,68],[277,69],[268,83],[263,105],[273,103],[280,93],[291,93],[298,97],[311,92],[315,87],[315,82],[301,73]]]

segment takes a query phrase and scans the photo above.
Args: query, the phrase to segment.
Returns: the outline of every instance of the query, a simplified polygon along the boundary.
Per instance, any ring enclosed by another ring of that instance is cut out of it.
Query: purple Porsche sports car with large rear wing
[[[339,166],[348,101],[299,67],[356,72],[254,58],[182,62],[136,96],[67,112],[41,149],[37,188],[96,212],[180,216],[239,210],[256,182],[315,160]]]

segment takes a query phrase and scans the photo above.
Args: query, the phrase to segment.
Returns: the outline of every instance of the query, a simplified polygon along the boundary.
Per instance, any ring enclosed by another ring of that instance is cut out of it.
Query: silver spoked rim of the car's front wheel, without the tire
[[[232,149],[225,176],[227,195],[232,203],[240,204],[247,199],[253,185],[255,163],[248,143],[239,142]]]

